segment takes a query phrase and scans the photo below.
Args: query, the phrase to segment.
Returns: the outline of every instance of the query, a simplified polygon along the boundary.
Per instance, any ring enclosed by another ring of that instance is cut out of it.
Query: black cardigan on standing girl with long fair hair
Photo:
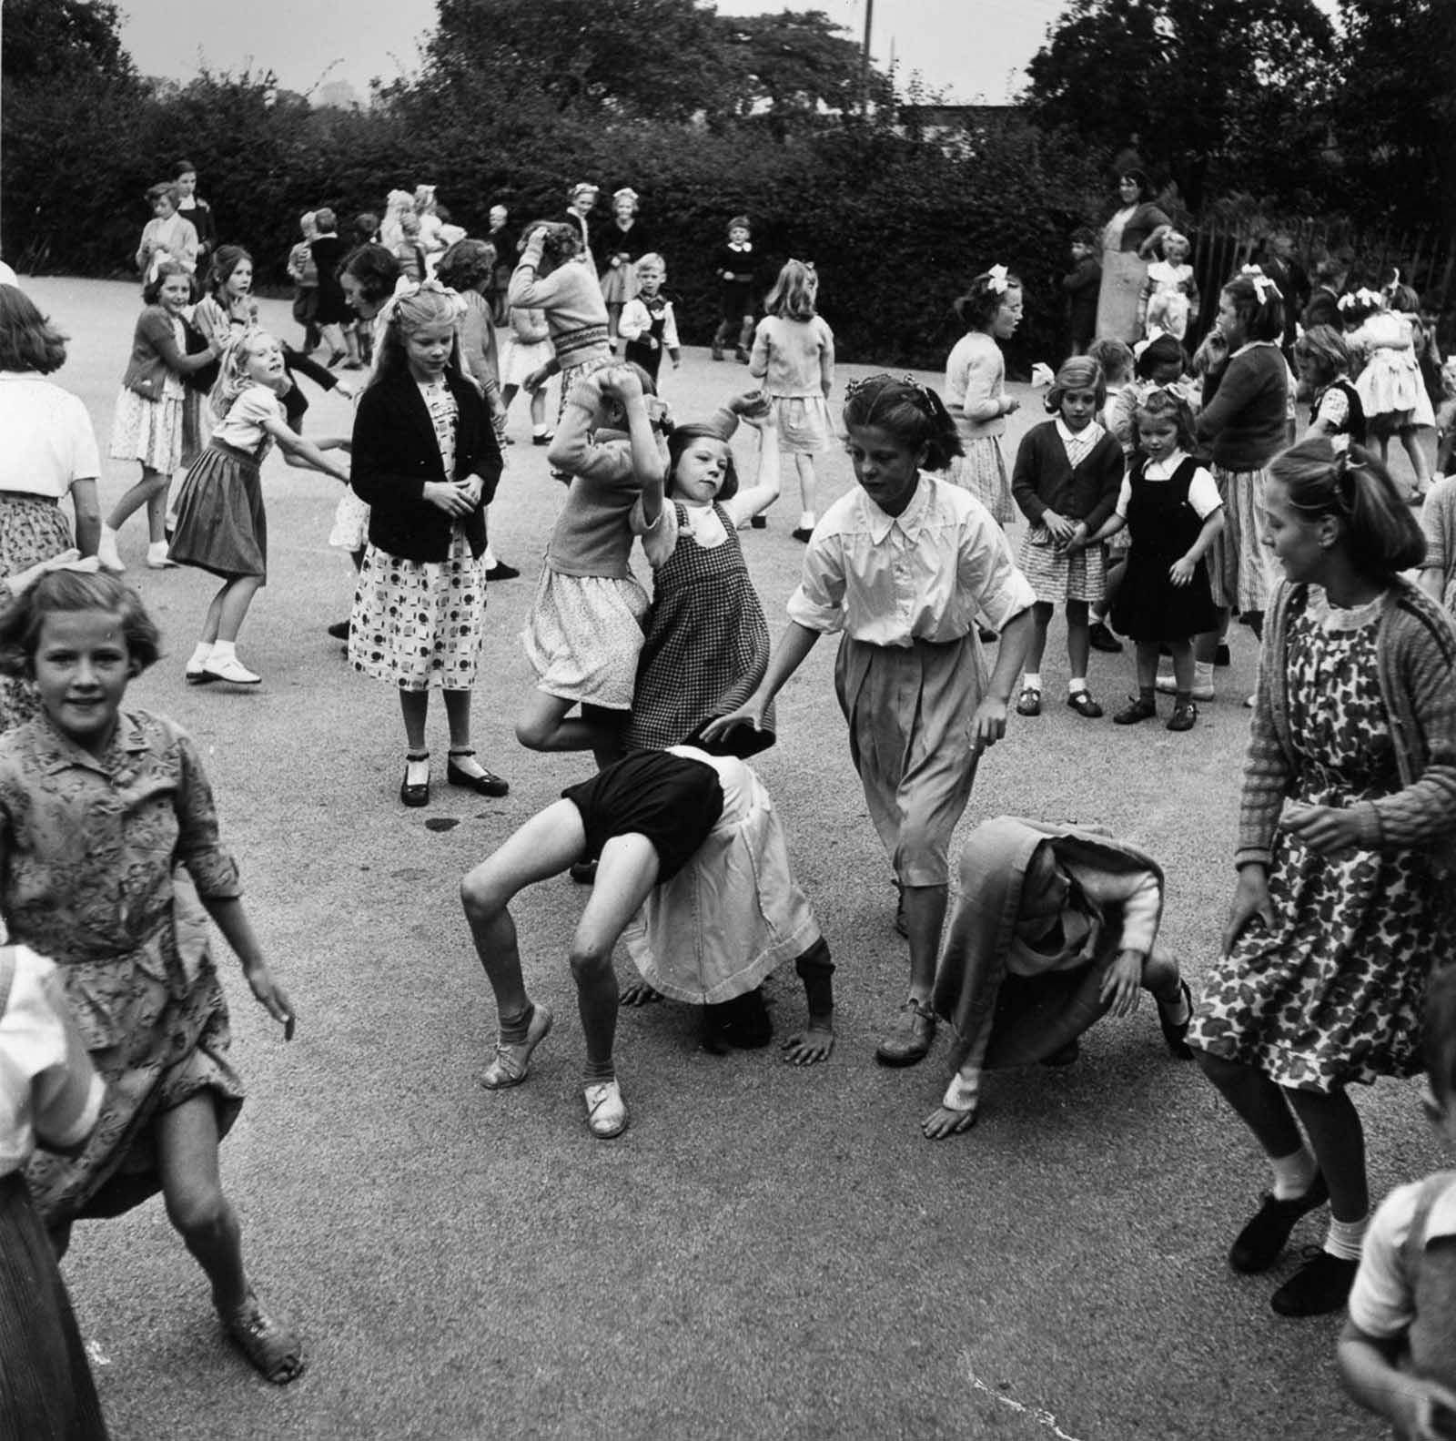
[[[408,372],[376,380],[360,396],[354,415],[349,485],[373,509],[370,543],[406,561],[444,561],[450,555],[454,519],[424,500],[427,481],[459,481],[479,475],[480,500],[463,520],[470,554],[485,554],[485,507],[501,479],[501,449],[480,392],[462,374],[446,372],[454,396],[456,466],[447,476],[435,443],[435,427],[419,386]]]

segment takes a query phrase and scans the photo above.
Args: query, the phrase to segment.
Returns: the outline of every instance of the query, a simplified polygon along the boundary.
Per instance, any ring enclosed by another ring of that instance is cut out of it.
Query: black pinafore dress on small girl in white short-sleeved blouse
[[[1185,456],[1166,481],[1146,479],[1146,469],[1147,462],[1139,459],[1128,476],[1133,494],[1127,529],[1133,546],[1112,605],[1112,624],[1134,641],[1185,641],[1219,624],[1203,559],[1187,586],[1175,586],[1168,574],[1203,530],[1198,511],[1188,503],[1198,462]]]

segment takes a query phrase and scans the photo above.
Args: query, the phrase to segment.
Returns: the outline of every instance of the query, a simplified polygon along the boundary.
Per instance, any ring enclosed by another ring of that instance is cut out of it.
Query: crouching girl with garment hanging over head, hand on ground
[[[920,1122],[926,1139],[976,1123],[983,1071],[1066,1065],[1085,1030],[1130,1016],[1143,991],[1168,1049],[1187,1061],[1192,1005],[1178,962],[1155,944],[1162,909],[1162,867],[1125,841],[1013,816],[977,826],[935,978],[958,1061]]]

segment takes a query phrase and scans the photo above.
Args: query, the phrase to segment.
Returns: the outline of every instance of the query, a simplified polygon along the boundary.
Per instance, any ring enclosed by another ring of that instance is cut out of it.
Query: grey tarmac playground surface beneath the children
[[[73,337],[55,379],[83,396],[105,450],[137,288],[26,288]],[[264,318],[297,338],[281,302],[265,302]],[[834,399],[872,369],[842,366]],[[748,386],[745,370],[689,350],[662,390],[690,418]],[[347,433],[349,405],[310,393],[307,433]],[[1016,393],[1008,462],[1044,414],[1038,395]],[[495,1017],[459,879],[591,769],[587,756],[529,753],[513,734],[533,683],[517,637],[563,491],[529,444],[523,401],[511,433],[492,538],[524,574],[491,589],[475,698],[480,759],[511,781],[504,800],[443,784],[435,701],[434,798],[400,807],[397,702],[323,634],[352,593],[347,555],[326,545],[336,482],[277,456],[265,465],[271,584],[239,645],[264,676],[252,692],[183,685],[215,581],[149,571],[143,519],[122,532],[127,578],[167,650],[128,704],[175,717],[201,743],[249,914],[298,1008],[285,1045],[218,943],[249,1084],[224,1182],[259,1294],[301,1326],[309,1371],[280,1390],[232,1352],[201,1272],[151,1201],[77,1227],[64,1268],[114,1435],[1383,1435],[1338,1390],[1340,1320],[1268,1307],[1322,1221],[1302,1222],[1275,1273],[1229,1271],[1227,1244],[1267,1171],[1195,1067],[1166,1053],[1150,1002],[1093,1029],[1075,1067],[992,1077],[965,1135],[922,1138],[945,1042],[910,1071],[874,1064],[907,957],[834,701],[833,641],[782,692],[779,743],[756,761],[839,966],[833,1056],[812,1069],[776,1051],[718,1058],[697,1046],[687,1008],[623,1011],[632,1128],[594,1141],[565,965],[585,893],[562,877],[515,908],[527,981],[556,1030],[526,1085],[480,1088]],[[737,449],[751,475],[751,436]],[[821,474],[826,503],[853,484],[839,452]],[[134,465],[105,462],[103,510],[134,479]],[[789,476],[770,527],[744,532],[775,634],[802,554],[789,538],[796,514]],[[1045,714],[1012,717],[964,825],[1000,813],[1098,822],[1147,848],[1168,873],[1163,941],[1197,992],[1233,889],[1252,637],[1235,637],[1219,699],[1188,734],[1070,711],[1063,637],[1059,618]],[[1091,685],[1111,714],[1133,686],[1131,656],[1095,654]],[[625,954],[619,975],[632,975]],[[802,989],[786,970],[769,994],[786,1036]],[[1414,1084],[1383,1083],[1357,1102],[1376,1196],[1437,1164]]]

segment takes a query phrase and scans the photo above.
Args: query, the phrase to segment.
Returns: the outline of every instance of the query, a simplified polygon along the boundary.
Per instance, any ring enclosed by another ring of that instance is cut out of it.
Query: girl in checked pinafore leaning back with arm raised
[[[652,608],[632,692],[629,750],[687,742],[705,721],[748,699],[769,669],[769,622],[737,532],[779,494],[778,418],[757,393],[738,396],[734,408],[763,434],[751,490],[738,490],[728,443],[738,424],[734,412],[676,425],[667,441],[670,504],[664,525],[644,543]],[[770,745],[772,707],[763,731]]]

